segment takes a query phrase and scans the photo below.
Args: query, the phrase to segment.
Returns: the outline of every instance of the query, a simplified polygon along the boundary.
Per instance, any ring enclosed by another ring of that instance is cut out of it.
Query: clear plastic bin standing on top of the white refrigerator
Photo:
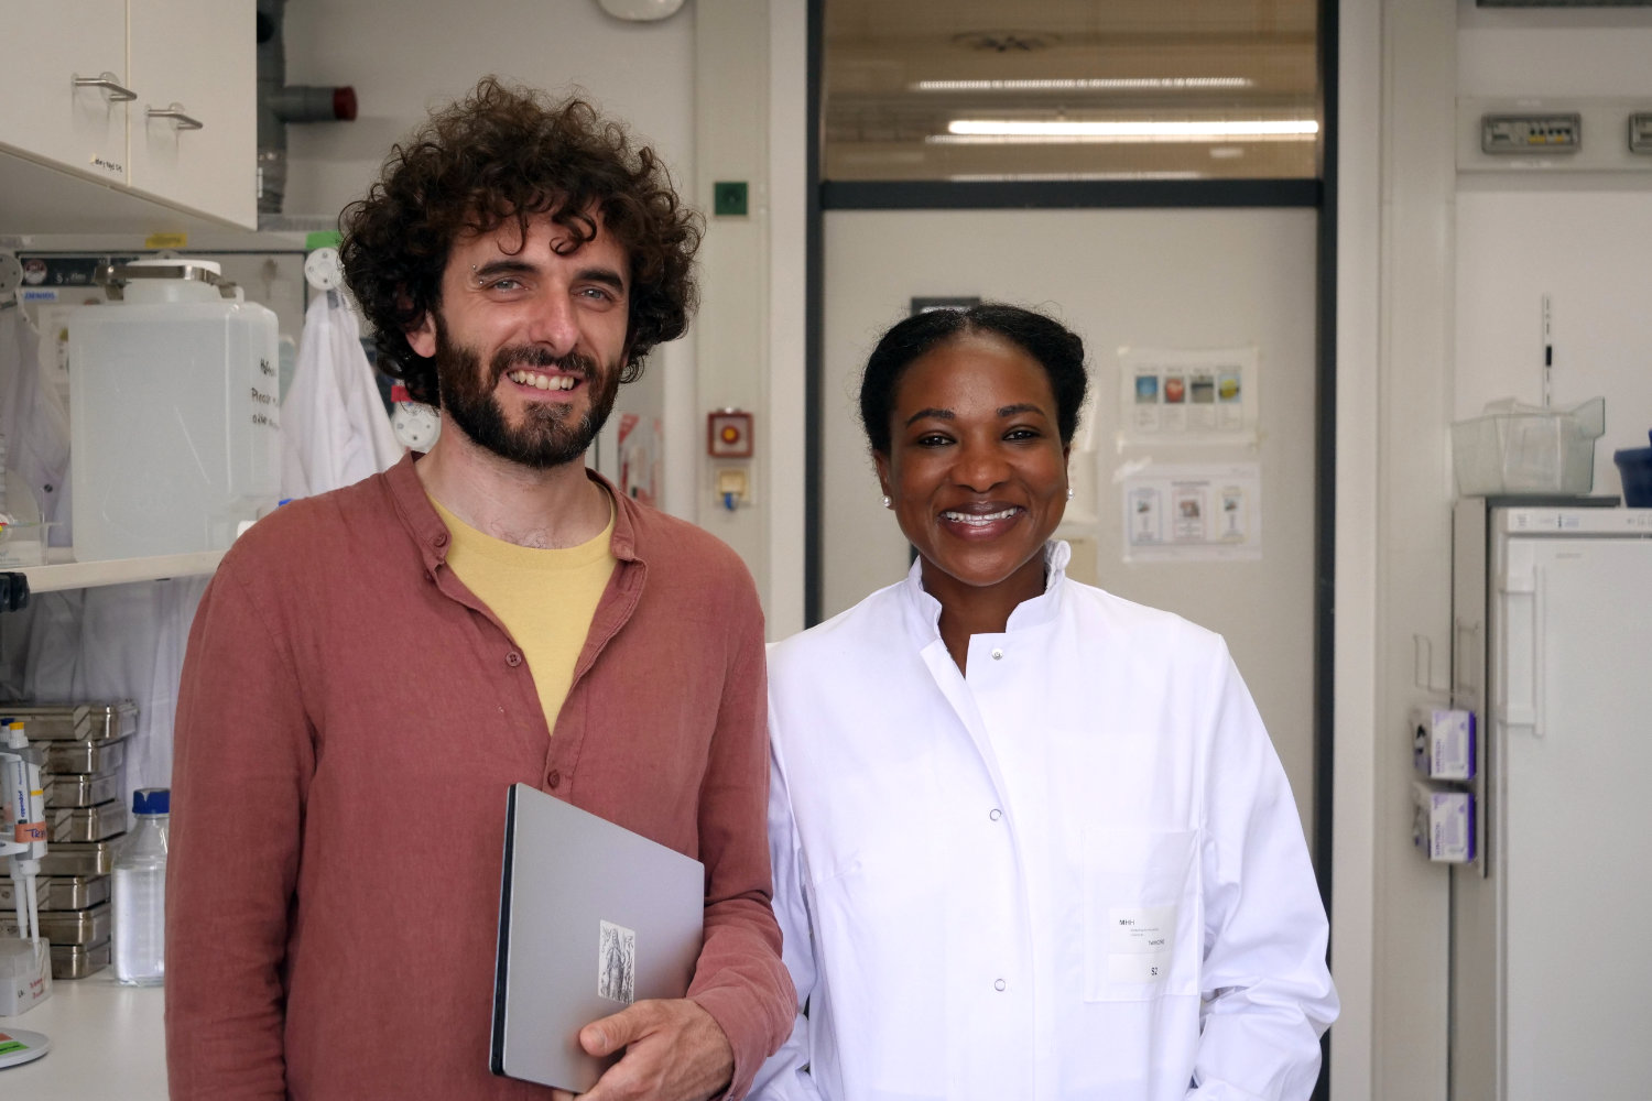
[[[1457,494],[1588,494],[1594,487],[1594,441],[1606,431],[1606,398],[1573,409],[1495,401],[1450,426]]]

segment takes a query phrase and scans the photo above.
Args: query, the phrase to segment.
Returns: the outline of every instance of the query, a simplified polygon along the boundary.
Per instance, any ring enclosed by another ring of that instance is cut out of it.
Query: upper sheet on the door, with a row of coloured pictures
[[[1254,347],[1120,348],[1122,442],[1256,442],[1257,363]]]

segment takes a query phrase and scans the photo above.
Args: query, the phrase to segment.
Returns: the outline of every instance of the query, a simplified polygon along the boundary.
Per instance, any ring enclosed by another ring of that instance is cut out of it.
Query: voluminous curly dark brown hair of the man
[[[634,145],[621,122],[583,99],[484,78],[464,99],[431,116],[385,158],[367,198],[344,208],[344,277],[377,330],[378,366],[415,401],[439,404],[436,361],[413,352],[406,330],[441,305],[441,274],[461,233],[491,233],[548,213],[575,241],[606,233],[631,256],[626,363],[681,337],[699,300],[694,253],[702,220],[684,206],[657,154]]]

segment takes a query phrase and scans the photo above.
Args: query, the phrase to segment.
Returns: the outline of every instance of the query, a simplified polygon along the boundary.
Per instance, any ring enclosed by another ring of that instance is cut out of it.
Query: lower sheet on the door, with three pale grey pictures
[[[1262,556],[1262,465],[1145,465],[1125,475],[1125,561]]]

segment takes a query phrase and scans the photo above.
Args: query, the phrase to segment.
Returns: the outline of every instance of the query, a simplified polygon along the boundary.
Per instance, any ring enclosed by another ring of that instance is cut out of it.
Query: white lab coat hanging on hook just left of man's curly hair
[[[281,495],[312,497],[388,470],[403,454],[344,297],[304,310],[292,381],[281,401]]]

